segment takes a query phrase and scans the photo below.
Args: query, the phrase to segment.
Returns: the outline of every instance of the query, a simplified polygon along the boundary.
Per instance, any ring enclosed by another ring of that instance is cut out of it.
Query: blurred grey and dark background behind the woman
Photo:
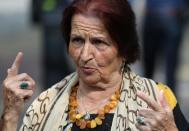
[[[184,4],[170,4],[165,0],[163,3],[162,0],[156,0],[156,3],[150,3],[151,0],[129,1],[136,13],[142,47],[141,60],[132,65],[132,68],[140,75],[172,85],[181,109],[189,120],[188,1],[185,0]],[[71,0],[0,0],[1,84],[6,77],[7,68],[19,51],[24,53],[20,72],[28,73],[37,83],[33,99],[74,71],[59,25],[62,11],[70,2]],[[175,5],[179,7],[172,8]],[[0,93],[2,112],[1,89]],[[26,108],[32,100],[26,103]]]

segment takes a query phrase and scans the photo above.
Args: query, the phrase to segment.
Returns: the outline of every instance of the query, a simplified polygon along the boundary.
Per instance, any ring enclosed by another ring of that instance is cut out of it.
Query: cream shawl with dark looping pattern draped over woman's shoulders
[[[28,108],[20,131],[63,131],[67,124],[71,88],[77,83],[78,75],[73,73],[41,93]],[[115,109],[111,131],[138,131],[135,127],[138,110],[148,106],[136,96],[137,90],[157,101],[156,83],[128,71],[123,75],[121,97]]]

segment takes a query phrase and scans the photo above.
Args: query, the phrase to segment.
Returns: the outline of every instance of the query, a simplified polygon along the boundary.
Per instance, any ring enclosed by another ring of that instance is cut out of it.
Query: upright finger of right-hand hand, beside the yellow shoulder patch
[[[167,100],[165,98],[163,90],[159,91],[158,99],[159,99],[160,105],[162,106],[163,109],[165,109],[166,111],[170,110],[170,107],[167,103]]]

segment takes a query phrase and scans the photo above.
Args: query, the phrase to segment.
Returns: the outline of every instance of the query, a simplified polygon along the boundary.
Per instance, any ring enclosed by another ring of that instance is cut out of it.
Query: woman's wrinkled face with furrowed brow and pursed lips
[[[120,75],[122,59],[116,43],[96,17],[73,17],[69,53],[85,83],[108,82],[112,75]]]

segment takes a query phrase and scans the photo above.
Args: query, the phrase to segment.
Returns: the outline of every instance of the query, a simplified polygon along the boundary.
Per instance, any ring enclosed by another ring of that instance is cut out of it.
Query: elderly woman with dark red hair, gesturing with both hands
[[[76,72],[43,92],[20,131],[186,131],[170,89],[128,67],[139,57],[135,17],[126,0],[75,0],[62,31]],[[35,82],[18,74],[19,53],[4,81],[3,131],[17,128]]]

